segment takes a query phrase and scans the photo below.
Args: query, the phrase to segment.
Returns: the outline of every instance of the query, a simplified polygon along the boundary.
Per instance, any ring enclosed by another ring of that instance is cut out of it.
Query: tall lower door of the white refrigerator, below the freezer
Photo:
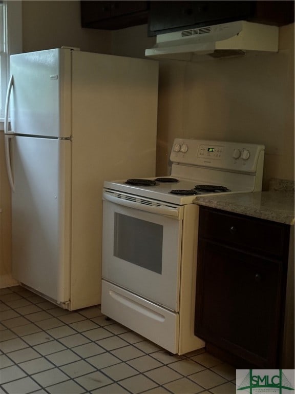
[[[13,277],[57,303],[68,303],[70,293],[71,145],[13,141]]]

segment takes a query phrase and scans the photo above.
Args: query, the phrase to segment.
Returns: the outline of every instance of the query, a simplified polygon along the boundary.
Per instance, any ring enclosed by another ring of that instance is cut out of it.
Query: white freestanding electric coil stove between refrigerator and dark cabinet
[[[194,335],[193,201],[261,190],[264,146],[176,139],[170,160],[171,176],[104,182],[101,311],[183,354],[204,346]]]

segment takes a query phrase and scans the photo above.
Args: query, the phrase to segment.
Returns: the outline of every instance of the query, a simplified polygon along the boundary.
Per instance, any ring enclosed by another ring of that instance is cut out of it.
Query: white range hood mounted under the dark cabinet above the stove
[[[156,45],[145,56],[196,62],[240,56],[247,52],[278,52],[278,26],[246,21],[202,26],[157,35]]]

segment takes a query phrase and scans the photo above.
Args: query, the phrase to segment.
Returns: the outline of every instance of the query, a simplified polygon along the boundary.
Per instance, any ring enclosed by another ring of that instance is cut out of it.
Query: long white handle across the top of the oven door
[[[161,204],[149,205],[150,200],[141,198],[138,196],[131,196],[136,201],[125,200],[124,198],[118,198],[115,195],[111,195],[109,192],[103,191],[102,199],[110,201],[111,203],[123,205],[128,208],[139,209],[141,211],[156,213],[158,215],[170,216],[172,218],[182,220],[183,219],[183,207],[173,207]]]

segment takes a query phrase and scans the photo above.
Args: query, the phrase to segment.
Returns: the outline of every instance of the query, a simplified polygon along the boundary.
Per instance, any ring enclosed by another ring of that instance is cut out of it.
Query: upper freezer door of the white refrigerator
[[[11,129],[17,134],[71,135],[71,51],[11,55]]]

